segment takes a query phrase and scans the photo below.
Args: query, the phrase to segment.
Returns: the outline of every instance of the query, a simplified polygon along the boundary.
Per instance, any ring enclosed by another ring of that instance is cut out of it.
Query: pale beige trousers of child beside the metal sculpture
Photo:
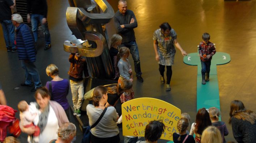
[[[84,100],[84,82],[83,80],[79,82],[73,80],[69,81],[74,109],[80,109]]]

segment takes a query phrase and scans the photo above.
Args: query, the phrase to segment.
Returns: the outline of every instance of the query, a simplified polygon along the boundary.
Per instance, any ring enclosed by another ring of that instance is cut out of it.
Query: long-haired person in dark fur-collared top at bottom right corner
[[[256,142],[256,114],[251,110],[246,110],[240,100],[234,100],[230,106],[229,124],[232,125],[232,131],[235,140],[238,143]]]

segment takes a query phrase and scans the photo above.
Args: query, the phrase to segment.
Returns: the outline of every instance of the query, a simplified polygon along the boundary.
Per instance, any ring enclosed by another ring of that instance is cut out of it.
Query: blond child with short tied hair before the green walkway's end
[[[223,121],[219,121],[219,109],[216,107],[210,107],[209,114],[210,119],[212,121],[212,125],[216,126],[219,129],[219,131],[221,132],[222,142],[226,143],[224,136],[228,135],[229,131],[227,130],[226,124]]]

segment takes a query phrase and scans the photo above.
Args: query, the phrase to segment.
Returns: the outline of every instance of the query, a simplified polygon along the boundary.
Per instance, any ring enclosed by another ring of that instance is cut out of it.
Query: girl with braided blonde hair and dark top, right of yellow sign
[[[174,143],[195,143],[195,139],[192,135],[186,133],[189,126],[188,119],[181,118],[178,121],[177,128],[178,133],[173,133],[172,138]]]

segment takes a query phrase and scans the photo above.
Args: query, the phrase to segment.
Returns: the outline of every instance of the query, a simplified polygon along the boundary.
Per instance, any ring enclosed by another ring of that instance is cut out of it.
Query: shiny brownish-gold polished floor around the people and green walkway
[[[117,0],[108,1],[116,11]],[[256,111],[256,0],[127,0],[127,2],[128,9],[133,10],[138,21],[135,34],[144,78],[144,83],[139,83],[136,79],[133,82],[136,98],[153,97],[167,101],[179,107],[182,112],[188,112],[191,122],[195,121],[197,67],[185,65],[180,51],[177,50],[175,65],[172,66],[172,90],[166,92],[165,86],[160,83],[152,37],[153,32],[162,22],[168,22],[175,29],[178,42],[187,53],[196,52],[202,33],[208,32],[211,35],[210,41],[216,43],[217,51],[230,54],[231,62],[219,65],[217,68],[222,121],[228,123],[232,100],[242,100],[247,109]],[[63,51],[63,41],[73,38],[65,18],[65,10],[68,6],[66,0],[48,0],[48,24],[52,48],[44,51],[44,42],[40,39],[35,62],[43,84],[50,80],[45,68],[51,63],[59,67],[61,77],[68,78],[69,54]],[[107,24],[107,30],[109,37],[115,33],[112,21]],[[0,37],[0,45],[2,45],[0,82],[8,105],[17,109],[20,100],[34,101],[34,94],[30,92],[30,88],[19,86],[25,79],[21,62],[17,53],[7,53],[2,30]],[[14,89],[15,87],[20,88]],[[68,98],[72,103],[71,95]],[[72,118],[71,122],[75,120]],[[226,140],[234,141],[231,126],[227,124],[227,127],[230,134]],[[81,137],[82,134],[78,131],[77,142],[80,142]],[[26,135],[22,134],[19,138],[25,142]]]

